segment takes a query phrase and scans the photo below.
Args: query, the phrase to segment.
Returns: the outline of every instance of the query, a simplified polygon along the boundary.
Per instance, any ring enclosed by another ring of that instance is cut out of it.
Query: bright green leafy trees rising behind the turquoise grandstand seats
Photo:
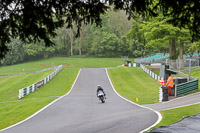
[[[191,34],[188,29],[180,29],[167,23],[168,20],[170,18],[163,14],[155,18],[136,19],[127,33],[127,38],[133,42],[132,52],[141,56],[169,52],[170,59],[177,59],[176,47],[180,46],[179,56],[183,59],[183,45],[191,44]]]

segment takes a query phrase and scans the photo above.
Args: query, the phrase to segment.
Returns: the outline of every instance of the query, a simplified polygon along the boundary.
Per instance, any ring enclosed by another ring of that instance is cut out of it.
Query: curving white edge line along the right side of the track
[[[162,115],[161,115],[158,111],[153,110],[153,109],[148,108],[148,107],[144,107],[144,106],[139,105],[139,104],[136,104],[136,103],[134,103],[134,102],[132,102],[132,101],[126,99],[125,97],[121,96],[121,95],[115,90],[115,88],[114,88],[114,86],[113,86],[113,84],[112,84],[112,81],[111,81],[111,79],[110,79],[110,77],[109,77],[109,75],[108,75],[107,68],[105,68],[105,70],[106,70],[106,74],[107,74],[108,80],[110,81],[110,84],[111,84],[111,86],[112,86],[114,92],[115,92],[119,97],[121,97],[122,99],[126,100],[127,102],[130,102],[130,103],[132,103],[132,104],[134,104],[134,105],[137,105],[137,106],[139,106],[139,107],[141,107],[141,108],[149,109],[149,110],[155,112],[155,113],[158,115],[158,120],[157,120],[153,125],[151,125],[150,127],[148,127],[148,128],[146,128],[146,129],[140,131],[140,133],[143,133],[143,132],[149,130],[150,128],[156,126],[156,125],[162,120]]]

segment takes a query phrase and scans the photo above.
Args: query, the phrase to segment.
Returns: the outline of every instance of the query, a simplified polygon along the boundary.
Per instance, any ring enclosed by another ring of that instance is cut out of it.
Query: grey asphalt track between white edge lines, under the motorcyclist
[[[105,103],[96,97],[100,84]],[[138,133],[159,119],[157,113],[132,104],[113,90],[105,69],[82,69],[71,92],[30,119],[2,133]]]

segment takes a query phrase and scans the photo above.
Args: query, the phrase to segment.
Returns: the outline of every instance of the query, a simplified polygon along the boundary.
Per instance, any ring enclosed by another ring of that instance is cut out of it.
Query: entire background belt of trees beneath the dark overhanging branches
[[[56,31],[52,38],[55,46],[45,47],[44,43],[24,44],[13,39],[1,65],[48,58],[51,56],[84,55],[93,57],[141,57],[154,53],[171,53],[177,58],[179,49],[184,53],[197,51],[199,43],[191,43],[188,30],[167,24],[162,15],[157,18],[138,17],[128,20],[123,11],[109,11],[101,16],[102,27],[84,25],[80,37],[76,38],[76,27],[67,29],[66,25]],[[183,47],[184,46],[184,47]]]

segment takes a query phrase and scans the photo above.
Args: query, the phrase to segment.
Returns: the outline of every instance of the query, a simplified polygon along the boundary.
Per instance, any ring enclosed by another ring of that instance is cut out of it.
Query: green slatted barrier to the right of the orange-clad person
[[[198,90],[198,79],[192,79],[191,81],[178,84],[175,86],[175,97],[189,94],[191,91]]]

